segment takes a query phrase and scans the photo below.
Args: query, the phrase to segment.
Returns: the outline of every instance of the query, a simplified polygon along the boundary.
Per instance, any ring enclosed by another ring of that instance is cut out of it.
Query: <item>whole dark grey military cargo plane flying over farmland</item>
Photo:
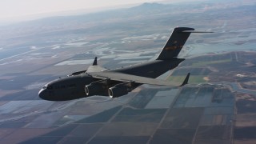
[[[89,66],[87,70],[78,71],[66,78],[58,78],[47,83],[38,95],[49,101],[66,101],[94,95],[118,98],[142,84],[184,86],[189,80],[190,73],[186,75],[182,83],[166,82],[155,78],[174,69],[185,60],[185,58],[178,58],[178,54],[190,33],[205,32],[195,31],[189,27],[176,27],[154,61],[108,70],[98,66],[97,58],[95,58],[93,65]]]

